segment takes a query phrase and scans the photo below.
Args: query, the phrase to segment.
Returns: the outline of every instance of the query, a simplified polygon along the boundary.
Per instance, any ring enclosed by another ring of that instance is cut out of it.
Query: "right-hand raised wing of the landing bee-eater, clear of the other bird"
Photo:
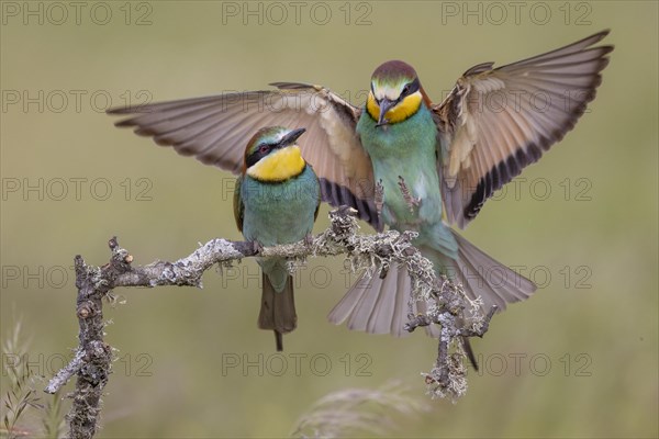
[[[449,223],[463,228],[495,190],[574,127],[613,50],[591,46],[607,34],[495,69],[493,63],[474,66],[432,106]]]

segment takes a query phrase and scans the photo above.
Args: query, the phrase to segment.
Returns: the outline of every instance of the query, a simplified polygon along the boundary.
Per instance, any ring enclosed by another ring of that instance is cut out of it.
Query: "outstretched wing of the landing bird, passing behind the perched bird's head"
[[[372,201],[372,165],[355,131],[360,110],[324,87],[272,86],[278,89],[112,109],[108,113],[130,115],[116,126],[135,127],[135,133],[153,137],[158,145],[234,173],[242,170],[245,145],[257,130],[276,125],[306,128],[300,147],[319,176],[323,201],[355,207],[362,219],[381,229]]]

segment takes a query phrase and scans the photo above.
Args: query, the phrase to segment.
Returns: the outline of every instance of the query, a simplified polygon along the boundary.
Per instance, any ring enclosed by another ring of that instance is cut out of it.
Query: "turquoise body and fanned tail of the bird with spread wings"
[[[438,160],[437,157],[442,148],[437,144],[439,136],[436,122],[427,106],[421,103],[407,119],[386,124],[381,123],[383,111],[380,111],[379,121],[364,111],[357,123],[357,133],[371,158],[375,181],[382,184],[384,223],[400,232],[417,232],[418,236],[412,244],[433,262],[435,272],[463,283],[467,294],[472,299],[478,295],[499,296],[507,302],[525,297],[527,291],[535,289],[533,283],[478,250],[444,223],[442,192],[438,189],[442,158]],[[494,279],[491,275],[493,272],[503,274],[501,279]],[[399,306],[406,305],[409,285],[403,285],[404,294],[401,294],[399,282],[395,281],[396,293],[392,293],[392,286],[386,283],[372,285],[367,291],[353,288],[330,318],[340,320],[347,313],[353,313],[350,324],[356,324],[355,327],[361,327],[361,323],[356,323],[361,320],[366,322],[367,330],[402,330],[389,325],[392,319],[394,324],[400,319],[395,315],[406,314],[406,311],[392,309],[386,303],[393,301]],[[400,299],[393,299],[393,294]],[[423,303],[414,305],[416,312],[421,313],[425,306]],[[431,333],[436,335],[433,330],[431,328]],[[478,369],[469,340],[463,338],[462,345],[471,363]]]

